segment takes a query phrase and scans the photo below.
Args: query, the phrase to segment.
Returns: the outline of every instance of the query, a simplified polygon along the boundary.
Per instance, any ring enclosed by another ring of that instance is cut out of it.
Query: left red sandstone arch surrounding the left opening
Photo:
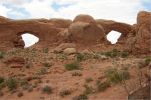
[[[3,20],[0,23],[0,48],[13,48],[15,39],[25,32],[37,36],[40,39],[39,44],[45,46],[54,41],[57,42],[57,34],[61,30],[51,23],[38,20]]]

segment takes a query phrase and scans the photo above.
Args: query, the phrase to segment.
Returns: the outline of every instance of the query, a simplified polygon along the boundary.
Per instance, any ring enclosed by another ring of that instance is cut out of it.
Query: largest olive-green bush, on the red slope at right
[[[130,78],[130,74],[127,70],[117,70],[115,68],[110,68],[106,70],[106,77],[112,83],[119,83],[123,80]]]

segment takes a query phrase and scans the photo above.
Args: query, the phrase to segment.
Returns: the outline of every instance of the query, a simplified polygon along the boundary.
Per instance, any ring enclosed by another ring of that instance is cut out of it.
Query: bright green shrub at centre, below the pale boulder
[[[65,69],[66,70],[78,70],[80,69],[80,65],[78,62],[71,62],[69,64],[65,64]]]

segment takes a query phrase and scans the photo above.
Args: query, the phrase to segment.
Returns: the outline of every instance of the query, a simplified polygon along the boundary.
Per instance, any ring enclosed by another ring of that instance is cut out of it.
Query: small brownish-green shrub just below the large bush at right
[[[97,81],[96,86],[97,86],[97,91],[102,92],[105,91],[108,87],[110,87],[110,83],[108,81],[105,82]]]

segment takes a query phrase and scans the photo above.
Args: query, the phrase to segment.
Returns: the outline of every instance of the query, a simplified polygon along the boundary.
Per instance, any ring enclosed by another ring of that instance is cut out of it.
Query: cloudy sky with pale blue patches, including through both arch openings
[[[67,18],[89,14],[96,19],[136,23],[139,11],[151,11],[151,0],[0,0],[0,16],[11,19]],[[107,38],[115,43],[120,33],[111,32]],[[24,36],[27,46],[38,41]]]

